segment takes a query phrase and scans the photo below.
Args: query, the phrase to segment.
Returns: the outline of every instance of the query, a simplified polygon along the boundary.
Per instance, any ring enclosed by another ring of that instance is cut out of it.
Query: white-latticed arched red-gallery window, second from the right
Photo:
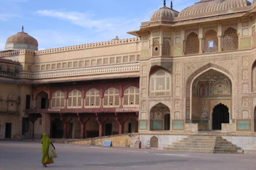
[[[109,88],[104,92],[103,107],[118,107],[119,91],[115,88]]]

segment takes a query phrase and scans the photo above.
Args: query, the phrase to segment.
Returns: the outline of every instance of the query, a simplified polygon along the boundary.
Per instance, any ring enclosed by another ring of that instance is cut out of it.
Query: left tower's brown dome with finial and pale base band
[[[6,40],[4,50],[38,50],[38,42],[35,38],[24,32],[24,27],[22,26],[21,32],[16,35],[12,35]]]

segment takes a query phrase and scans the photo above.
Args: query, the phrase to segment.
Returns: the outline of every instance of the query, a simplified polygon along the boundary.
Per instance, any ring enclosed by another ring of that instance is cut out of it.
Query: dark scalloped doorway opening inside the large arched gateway
[[[229,124],[229,112],[228,107],[220,103],[213,108],[212,130],[221,130],[221,124]]]

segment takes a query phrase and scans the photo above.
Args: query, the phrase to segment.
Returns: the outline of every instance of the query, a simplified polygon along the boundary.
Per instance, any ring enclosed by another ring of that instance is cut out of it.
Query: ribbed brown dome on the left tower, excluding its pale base
[[[16,35],[12,35],[6,40],[6,44],[8,43],[28,43],[35,46],[38,46],[38,42],[32,36],[25,33],[22,29],[21,32],[18,32]]]

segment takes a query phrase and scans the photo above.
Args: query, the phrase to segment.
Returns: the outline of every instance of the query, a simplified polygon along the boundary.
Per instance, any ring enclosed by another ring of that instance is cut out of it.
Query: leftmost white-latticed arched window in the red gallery
[[[64,108],[65,107],[65,97],[64,92],[58,90],[52,93],[51,108]]]

